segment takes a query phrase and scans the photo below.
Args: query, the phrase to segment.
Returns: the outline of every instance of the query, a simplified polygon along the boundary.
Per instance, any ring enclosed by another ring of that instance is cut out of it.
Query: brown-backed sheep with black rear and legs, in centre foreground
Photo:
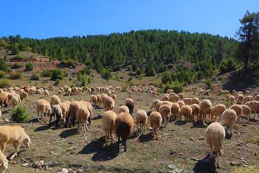
[[[134,121],[130,113],[121,112],[115,119],[115,134],[118,137],[118,153],[120,150],[120,138],[124,145],[124,152],[127,151],[127,137],[131,135]]]

